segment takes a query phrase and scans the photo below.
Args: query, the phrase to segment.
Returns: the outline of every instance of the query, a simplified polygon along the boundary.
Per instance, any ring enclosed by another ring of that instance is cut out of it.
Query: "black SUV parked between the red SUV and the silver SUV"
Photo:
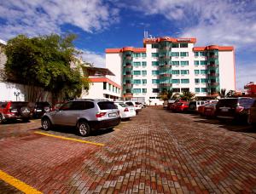
[[[51,106],[46,101],[29,103],[29,106],[32,107],[32,117],[34,118],[42,117],[45,112],[51,111]]]

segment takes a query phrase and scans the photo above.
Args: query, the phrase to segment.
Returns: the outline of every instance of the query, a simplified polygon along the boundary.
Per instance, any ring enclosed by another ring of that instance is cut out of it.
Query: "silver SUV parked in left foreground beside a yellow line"
[[[74,126],[81,136],[100,128],[113,128],[120,123],[119,110],[108,100],[73,100],[57,111],[44,114],[41,119],[44,130],[53,125]]]

